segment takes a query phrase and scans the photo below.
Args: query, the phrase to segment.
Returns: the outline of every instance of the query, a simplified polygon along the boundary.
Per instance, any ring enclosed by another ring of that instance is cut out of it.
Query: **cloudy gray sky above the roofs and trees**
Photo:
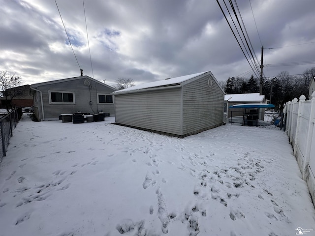
[[[56,2],[0,0],[1,71],[34,84],[80,76],[82,68],[84,75],[112,86],[118,78],[142,84],[208,70],[218,81],[254,74],[247,61],[251,52],[242,46],[244,56],[217,0]],[[281,71],[302,74],[315,66],[314,0],[232,2],[258,67],[264,46],[265,77]],[[239,37],[223,0],[219,3]]]

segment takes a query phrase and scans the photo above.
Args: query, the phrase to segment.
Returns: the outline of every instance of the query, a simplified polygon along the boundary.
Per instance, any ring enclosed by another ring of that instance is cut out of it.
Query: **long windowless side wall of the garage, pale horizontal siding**
[[[116,123],[181,134],[181,89],[115,95]]]

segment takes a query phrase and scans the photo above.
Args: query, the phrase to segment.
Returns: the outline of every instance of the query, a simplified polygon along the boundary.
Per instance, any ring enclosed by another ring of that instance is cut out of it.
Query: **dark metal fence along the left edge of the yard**
[[[22,108],[17,108],[0,118],[0,163],[6,155],[6,149],[17,123],[22,117]]]

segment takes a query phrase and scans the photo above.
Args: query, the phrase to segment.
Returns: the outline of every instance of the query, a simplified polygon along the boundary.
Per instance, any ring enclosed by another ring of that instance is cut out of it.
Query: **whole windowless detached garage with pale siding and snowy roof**
[[[113,94],[117,124],[182,138],[223,122],[224,91],[210,71]]]

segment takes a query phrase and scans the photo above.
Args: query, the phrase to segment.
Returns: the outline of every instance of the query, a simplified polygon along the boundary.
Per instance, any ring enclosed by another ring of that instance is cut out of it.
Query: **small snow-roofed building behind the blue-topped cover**
[[[244,109],[229,109],[230,106],[244,103],[266,103],[265,95],[259,93],[241,93],[241,94],[225,94],[224,96],[224,112],[227,117],[243,116]],[[250,111],[247,111],[248,113]],[[259,109],[259,119],[264,120],[265,109]]]

